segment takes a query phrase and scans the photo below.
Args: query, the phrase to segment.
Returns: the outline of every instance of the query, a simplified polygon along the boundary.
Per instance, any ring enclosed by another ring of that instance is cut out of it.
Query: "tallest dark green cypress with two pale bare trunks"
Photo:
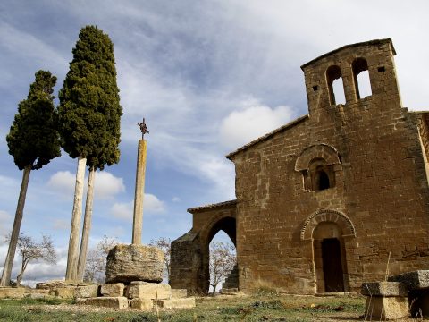
[[[71,157],[78,157],[66,280],[81,279],[78,276],[78,249],[85,165],[89,166],[90,180],[80,251],[82,256],[88,249],[95,171],[119,161],[122,115],[116,84],[114,45],[110,38],[103,30],[86,26],[80,30],[72,53],[70,70],[59,93],[59,129],[63,148]],[[85,258],[81,261],[84,268]],[[83,275],[83,269],[80,275]]]

